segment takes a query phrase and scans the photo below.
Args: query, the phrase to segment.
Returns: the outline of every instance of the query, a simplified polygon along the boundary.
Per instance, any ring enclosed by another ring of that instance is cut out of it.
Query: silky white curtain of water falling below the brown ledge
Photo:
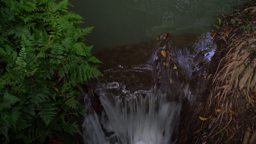
[[[145,96],[131,95],[120,101],[104,89],[95,91],[106,111],[119,144],[168,144],[180,118],[181,103],[168,101],[153,88]]]

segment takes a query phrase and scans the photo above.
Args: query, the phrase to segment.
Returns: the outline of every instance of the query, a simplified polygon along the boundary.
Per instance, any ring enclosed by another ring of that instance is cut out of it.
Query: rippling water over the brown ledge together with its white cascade
[[[192,104],[199,94],[199,87],[194,85],[205,79],[203,64],[210,60],[214,47],[210,33],[183,50],[171,40],[161,40],[145,64],[105,70],[108,78],[94,91],[103,107],[100,116],[85,94],[84,143],[175,143],[184,100]],[[163,49],[170,54],[163,57]],[[164,66],[168,58],[173,61]]]

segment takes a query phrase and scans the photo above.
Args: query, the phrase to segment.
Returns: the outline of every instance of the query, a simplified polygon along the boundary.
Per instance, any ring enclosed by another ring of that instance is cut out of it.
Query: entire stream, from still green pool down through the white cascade
[[[94,88],[102,106],[96,112],[84,94],[84,144],[175,143],[184,103],[190,108],[196,102],[206,79],[204,66],[214,54],[214,16],[241,0],[69,1],[75,6],[70,10],[85,18],[81,26],[95,27],[86,37],[94,52],[120,46],[97,56],[107,57],[101,69],[105,77]],[[152,42],[166,32],[184,34],[184,43],[190,41],[186,33],[200,36],[185,46]],[[133,45],[140,42],[148,43]],[[163,58],[162,50],[170,54]]]

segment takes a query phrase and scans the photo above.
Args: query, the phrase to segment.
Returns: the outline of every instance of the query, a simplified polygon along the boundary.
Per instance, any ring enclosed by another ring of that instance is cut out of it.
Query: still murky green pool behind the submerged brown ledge
[[[214,16],[241,0],[69,0],[80,14],[82,26],[94,26],[88,45],[95,51],[111,46],[151,41],[164,32],[205,33]]]

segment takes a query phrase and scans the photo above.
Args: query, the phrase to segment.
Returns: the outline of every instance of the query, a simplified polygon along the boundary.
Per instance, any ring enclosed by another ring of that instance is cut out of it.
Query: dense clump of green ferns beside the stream
[[[81,134],[69,115],[86,112],[82,84],[102,76],[68,0],[0,2],[0,143],[44,143],[54,131]]]

